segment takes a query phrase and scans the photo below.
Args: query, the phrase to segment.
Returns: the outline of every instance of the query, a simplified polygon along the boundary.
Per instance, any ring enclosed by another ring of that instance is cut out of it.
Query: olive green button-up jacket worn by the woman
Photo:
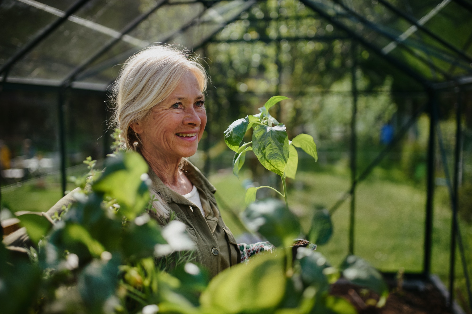
[[[159,194],[162,200],[168,203],[170,209],[175,212],[177,220],[185,223],[190,238],[196,244],[196,262],[207,267],[210,276],[214,277],[222,270],[239,263],[241,253],[233,234],[219,215],[214,197],[215,187],[187,160],[183,161],[182,168],[190,182],[197,187],[205,217],[195,204],[164,185],[152,170],[149,171],[152,180],[150,190]],[[74,193],[69,193],[61,198],[45,214],[51,217],[55,212],[60,213],[62,206],[76,202],[73,195]],[[169,223],[169,219],[158,216],[154,211],[150,211],[149,215],[160,225]],[[29,247],[31,245],[29,242],[25,228],[3,239],[3,243],[10,248]]]

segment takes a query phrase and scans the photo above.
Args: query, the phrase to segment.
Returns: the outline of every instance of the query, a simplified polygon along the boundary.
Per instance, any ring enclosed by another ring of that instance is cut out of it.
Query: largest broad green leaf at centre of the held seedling
[[[253,132],[253,151],[266,169],[282,176],[289,155],[285,125],[257,125]]]

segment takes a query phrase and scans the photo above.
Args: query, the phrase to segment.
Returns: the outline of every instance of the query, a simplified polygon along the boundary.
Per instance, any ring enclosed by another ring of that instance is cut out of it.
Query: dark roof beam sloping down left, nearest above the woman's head
[[[160,8],[162,5],[164,5],[168,0],[159,0],[155,3],[155,5],[150,8],[147,12],[144,12],[140,16],[136,17],[133,21],[131,21],[128,25],[125,26],[125,28],[121,31],[120,35],[104,46],[101,47],[100,50],[95,52],[91,57],[86,59],[81,65],[77,66],[75,69],[73,69],[69,74],[67,74],[66,78],[62,81],[62,84],[64,87],[67,87],[70,85],[70,83],[74,80],[75,76],[82,72],[84,68],[88,65],[90,65],[93,61],[95,61],[97,58],[99,58],[102,54],[110,50],[111,47],[113,47],[118,41],[121,40],[121,38],[126,35],[127,33],[131,32],[137,25],[139,25],[144,19],[149,17],[155,10]]]

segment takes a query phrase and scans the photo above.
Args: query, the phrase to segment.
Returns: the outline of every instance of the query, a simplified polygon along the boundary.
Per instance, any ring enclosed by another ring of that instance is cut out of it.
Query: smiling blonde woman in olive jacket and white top
[[[127,149],[149,164],[150,212],[161,225],[174,212],[196,243],[196,262],[211,276],[241,260],[223,222],[216,189],[186,157],[195,154],[207,117],[205,69],[172,46],[153,46],[128,59],[115,85],[115,123]]]

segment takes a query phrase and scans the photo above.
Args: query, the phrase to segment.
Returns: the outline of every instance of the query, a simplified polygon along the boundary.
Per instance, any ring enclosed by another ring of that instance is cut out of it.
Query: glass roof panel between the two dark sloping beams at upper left
[[[113,27],[121,29],[141,14],[135,3],[130,5],[126,2],[125,5],[125,2],[110,1],[105,4],[105,1],[92,0],[87,3],[76,16],[67,20],[21,60],[10,76],[42,79],[67,77],[76,66],[119,35]],[[148,7],[141,9],[147,10]],[[100,24],[104,20],[111,22]],[[147,44],[132,36],[124,36],[123,41],[128,45],[127,49],[133,46],[141,48]]]

